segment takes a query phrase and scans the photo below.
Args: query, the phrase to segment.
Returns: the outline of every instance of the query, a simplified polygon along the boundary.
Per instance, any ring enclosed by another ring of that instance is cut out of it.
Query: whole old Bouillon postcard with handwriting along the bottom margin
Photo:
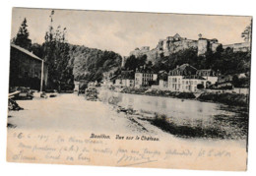
[[[247,169],[252,17],[13,8],[7,161]]]

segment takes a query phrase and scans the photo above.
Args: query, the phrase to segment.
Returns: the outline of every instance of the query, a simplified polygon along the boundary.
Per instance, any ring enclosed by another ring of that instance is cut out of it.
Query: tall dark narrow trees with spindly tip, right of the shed
[[[69,44],[66,41],[66,28],[53,29],[53,15],[50,15],[49,30],[42,44],[43,58],[48,65],[49,88],[72,90],[74,88],[73,63],[70,62]]]

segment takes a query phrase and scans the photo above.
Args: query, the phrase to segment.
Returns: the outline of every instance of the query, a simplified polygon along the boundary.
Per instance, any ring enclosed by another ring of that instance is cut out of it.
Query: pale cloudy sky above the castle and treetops
[[[67,28],[67,40],[122,56],[136,47],[158,45],[160,39],[179,33],[181,37],[217,38],[220,43],[243,42],[241,32],[251,17],[129,13],[109,11],[54,10],[53,27]],[[50,25],[51,9],[13,8],[11,38],[16,36],[24,18],[32,43],[41,44]]]

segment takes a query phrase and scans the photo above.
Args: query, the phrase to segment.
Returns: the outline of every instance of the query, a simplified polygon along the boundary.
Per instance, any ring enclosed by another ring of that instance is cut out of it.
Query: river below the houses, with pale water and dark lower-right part
[[[116,105],[126,109],[130,108],[143,113],[158,114],[159,116],[164,115],[171,122],[171,127],[178,130],[182,128],[193,133],[196,131],[195,128],[197,130],[200,128],[207,129],[207,133],[214,138],[247,138],[248,114],[241,113],[236,108],[224,104],[128,94],[104,88],[99,89],[99,98],[105,103],[109,103],[109,99],[114,98]],[[182,136],[182,134],[178,135]]]

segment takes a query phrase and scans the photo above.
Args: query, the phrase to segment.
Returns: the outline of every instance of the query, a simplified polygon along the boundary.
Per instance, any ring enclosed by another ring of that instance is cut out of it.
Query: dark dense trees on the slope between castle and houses
[[[177,65],[188,63],[197,69],[213,69],[223,75],[247,73],[250,69],[249,52],[233,52],[220,45],[216,52],[208,51],[205,56],[197,55],[197,48],[178,51],[166,57],[157,58],[153,68],[156,72],[168,72]]]

